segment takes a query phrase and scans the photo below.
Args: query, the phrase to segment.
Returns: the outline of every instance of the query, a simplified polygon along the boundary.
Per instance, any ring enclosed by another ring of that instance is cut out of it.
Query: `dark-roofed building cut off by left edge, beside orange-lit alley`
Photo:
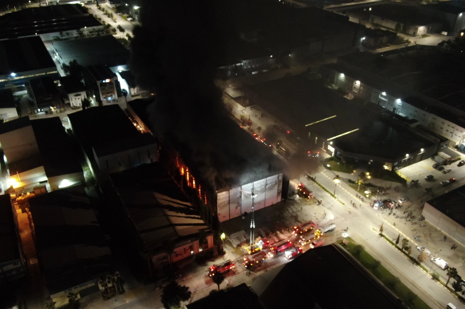
[[[0,248],[0,283],[24,277],[24,258],[20,250],[20,235],[13,217],[10,194],[0,195]]]

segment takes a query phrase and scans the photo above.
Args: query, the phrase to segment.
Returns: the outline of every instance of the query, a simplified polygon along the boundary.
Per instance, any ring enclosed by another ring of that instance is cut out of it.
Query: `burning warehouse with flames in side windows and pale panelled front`
[[[149,104],[132,101],[128,110],[142,122],[140,119],[148,117],[136,111],[143,113]],[[190,147],[159,137],[160,161],[193,205],[200,208],[207,223],[216,217],[223,222],[251,212],[252,193],[257,194],[254,210],[271,206],[281,201],[288,187],[283,163],[233,120],[226,116],[222,120],[222,130],[209,135],[214,151],[207,159],[199,159]],[[139,124],[151,127],[150,123]]]

